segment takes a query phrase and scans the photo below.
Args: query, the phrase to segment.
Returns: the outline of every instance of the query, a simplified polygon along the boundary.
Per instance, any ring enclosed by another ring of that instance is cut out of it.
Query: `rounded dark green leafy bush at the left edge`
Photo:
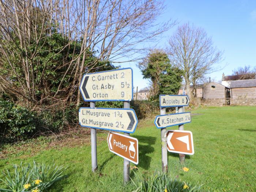
[[[0,127],[2,140],[26,138],[36,128],[34,113],[0,98]]]

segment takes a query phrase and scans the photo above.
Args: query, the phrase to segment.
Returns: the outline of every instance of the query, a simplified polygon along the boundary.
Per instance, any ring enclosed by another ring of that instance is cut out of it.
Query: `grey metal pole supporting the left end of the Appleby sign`
[[[160,107],[160,114],[165,115],[166,109]],[[167,158],[166,128],[161,129],[161,146],[162,146],[162,172],[167,172],[168,171],[168,158]]]

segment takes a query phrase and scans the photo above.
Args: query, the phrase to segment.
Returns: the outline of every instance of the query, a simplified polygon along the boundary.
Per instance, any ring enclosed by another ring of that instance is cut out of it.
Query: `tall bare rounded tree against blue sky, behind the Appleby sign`
[[[202,28],[186,23],[178,27],[169,39],[170,62],[184,71],[187,93],[191,98],[190,84],[196,86],[199,79],[213,71],[214,65],[222,59],[222,52],[213,46]]]

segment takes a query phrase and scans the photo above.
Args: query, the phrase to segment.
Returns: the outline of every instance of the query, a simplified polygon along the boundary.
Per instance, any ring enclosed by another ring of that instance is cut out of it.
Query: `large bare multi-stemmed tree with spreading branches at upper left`
[[[163,0],[0,0],[0,70],[8,69],[0,76],[0,89],[32,103],[61,99],[78,105],[84,73],[109,62],[141,59],[133,55],[147,48],[138,44],[156,40],[174,25],[172,20],[154,24],[163,9]],[[45,50],[49,38],[58,34],[61,46]],[[89,52],[95,54],[92,61],[87,60]],[[42,53],[48,56],[39,72]],[[61,77],[52,90],[44,78],[53,68],[47,63],[59,55],[54,70],[61,71]],[[44,89],[37,93],[38,87]]]

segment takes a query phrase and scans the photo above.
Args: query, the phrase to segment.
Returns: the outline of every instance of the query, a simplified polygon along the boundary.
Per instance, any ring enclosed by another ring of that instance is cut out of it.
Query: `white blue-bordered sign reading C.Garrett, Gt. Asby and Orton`
[[[84,101],[131,101],[132,87],[132,68],[124,68],[85,74],[79,88]]]

